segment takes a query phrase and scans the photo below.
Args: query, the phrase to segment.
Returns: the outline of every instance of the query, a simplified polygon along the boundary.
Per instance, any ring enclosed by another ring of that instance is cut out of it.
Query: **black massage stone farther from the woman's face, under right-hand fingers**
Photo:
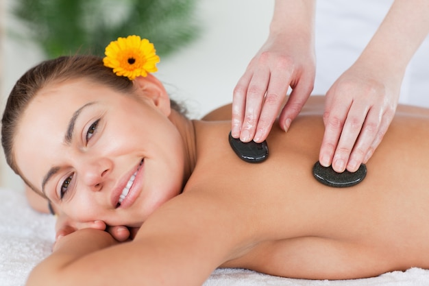
[[[347,170],[343,171],[343,173],[337,173],[332,167],[323,167],[317,161],[312,168],[312,174],[316,180],[329,187],[352,187],[362,182],[367,176],[367,167],[361,164],[359,169],[353,173]]]

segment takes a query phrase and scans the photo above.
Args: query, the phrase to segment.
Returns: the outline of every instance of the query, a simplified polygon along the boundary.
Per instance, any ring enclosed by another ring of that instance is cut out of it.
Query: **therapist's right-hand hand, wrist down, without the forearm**
[[[321,165],[353,172],[367,163],[395,115],[401,82],[402,74],[384,75],[359,64],[336,80],[326,93]]]

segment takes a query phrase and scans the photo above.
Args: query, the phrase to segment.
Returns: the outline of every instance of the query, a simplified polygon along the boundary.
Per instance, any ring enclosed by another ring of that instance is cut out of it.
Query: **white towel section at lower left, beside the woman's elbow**
[[[32,268],[51,253],[55,218],[36,213],[22,191],[0,189],[0,285],[24,285]]]

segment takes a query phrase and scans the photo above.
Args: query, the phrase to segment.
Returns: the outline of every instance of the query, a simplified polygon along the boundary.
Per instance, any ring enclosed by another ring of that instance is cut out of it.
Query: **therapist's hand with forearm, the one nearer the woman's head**
[[[280,127],[287,130],[301,111],[315,80],[313,19],[313,1],[275,1],[269,38],[234,88],[234,138],[264,141],[289,86],[292,93],[282,109]]]

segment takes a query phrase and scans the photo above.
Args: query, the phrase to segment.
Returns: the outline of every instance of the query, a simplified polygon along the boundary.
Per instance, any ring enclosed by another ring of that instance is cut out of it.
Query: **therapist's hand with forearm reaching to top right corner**
[[[428,1],[395,0],[376,34],[326,94],[321,165],[356,171],[389,128],[406,66],[429,32]]]

